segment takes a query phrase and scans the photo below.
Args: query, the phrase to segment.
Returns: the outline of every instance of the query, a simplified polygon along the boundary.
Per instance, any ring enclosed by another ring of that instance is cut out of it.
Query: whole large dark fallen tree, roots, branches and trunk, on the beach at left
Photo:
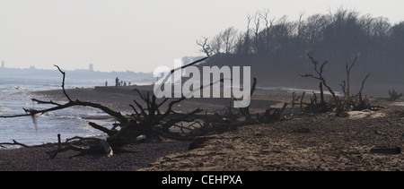
[[[184,65],[180,68],[171,70],[164,80],[167,81],[168,77],[177,70],[184,69],[190,65],[198,64],[204,61],[206,58],[195,61],[191,64]],[[96,123],[90,122],[89,125],[92,128],[100,130],[106,133],[106,138],[83,138],[74,137],[72,139],[67,139],[63,145],[60,142],[60,135],[58,138],[57,150],[49,151],[48,155],[51,159],[57,157],[59,152],[66,150],[78,151],[78,155],[93,154],[93,153],[103,153],[108,156],[113,155],[114,152],[125,151],[121,148],[127,144],[145,142],[147,140],[162,140],[162,138],[169,138],[172,140],[179,141],[192,141],[197,136],[200,136],[209,132],[224,132],[237,128],[242,125],[251,125],[257,123],[268,123],[280,119],[285,106],[281,109],[278,108],[268,108],[263,114],[257,114],[255,117],[250,115],[250,107],[243,107],[238,109],[229,108],[226,114],[201,114],[202,109],[196,108],[189,113],[177,113],[173,111],[172,107],[179,104],[186,98],[183,96],[179,99],[157,99],[154,94],[142,93],[140,90],[136,90],[137,95],[140,97],[141,101],[138,102],[133,100],[134,104],[129,105],[133,109],[133,114],[130,116],[124,116],[119,111],[115,111],[110,107],[103,106],[99,103],[93,103],[90,101],[82,101],[80,99],[72,99],[66,89],[65,89],[65,78],[66,73],[63,72],[57,65],[57,70],[62,73],[62,92],[66,97],[66,103],[57,103],[52,100],[40,100],[31,99],[33,102],[39,104],[45,104],[52,107],[45,109],[24,109],[25,114],[14,115],[14,116],[0,116],[3,118],[21,117],[21,116],[31,116],[33,119],[37,115],[45,114],[47,112],[56,111],[60,109],[65,109],[68,107],[93,107],[100,109],[109,116],[115,118],[118,122],[113,125],[112,128],[107,128]],[[223,80],[217,81],[223,82]],[[254,78],[252,84],[252,89],[250,94],[252,96],[257,80]],[[215,82],[210,83],[209,86],[201,86],[200,90],[205,87],[210,87]],[[166,105],[165,110],[162,106]],[[238,113],[234,113],[238,112]],[[242,118],[244,116],[244,118]],[[183,124],[186,123],[187,126]],[[180,128],[181,133],[172,132],[171,128]],[[13,143],[3,143],[4,145],[21,145],[28,147],[19,142]]]

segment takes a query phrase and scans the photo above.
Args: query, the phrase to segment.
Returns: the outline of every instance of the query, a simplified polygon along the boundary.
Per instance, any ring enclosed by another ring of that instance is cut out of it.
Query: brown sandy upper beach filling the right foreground
[[[404,116],[404,115],[395,115]],[[403,118],[302,117],[248,125],[201,137],[198,148],[171,154],[140,170],[395,171]]]

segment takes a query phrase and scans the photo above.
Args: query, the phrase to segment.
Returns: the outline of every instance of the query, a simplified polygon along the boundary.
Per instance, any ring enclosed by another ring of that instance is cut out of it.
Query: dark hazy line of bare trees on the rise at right
[[[374,83],[404,83],[404,21],[391,24],[387,18],[343,9],[302,15],[297,21],[271,19],[269,13],[249,15],[246,30],[230,27],[199,39],[201,52],[211,57],[207,64],[250,65],[261,83],[300,85],[298,73],[313,70],[306,56],[311,53],[329,61],[326,73],[338,85],[345,64],[359,56],[354,79],[372,73],[369,81]]]

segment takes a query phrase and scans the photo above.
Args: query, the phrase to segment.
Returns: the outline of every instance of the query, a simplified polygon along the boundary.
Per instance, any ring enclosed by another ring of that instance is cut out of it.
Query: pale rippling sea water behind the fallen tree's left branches
[[[66,82],[66,89],[92,88],[102,82]],[[13,116],[24,114],[23,108],[44,109],[49,105],[33,103],[32,91],[61,89],[61,80],[58,79],[10,79],[0,78],[0,116]],[[35,117],[22,116],[13,118],[0,118],[0,143],[21,142],[26,145],[38,145],[48,142],[57,142],[60,133],[62,141],[75,136],[98,136],[101,133],[93,129],[88,122],[93,121],[99,125],[110,128],[113,120],[84,120],[83,116],[106,116],[97,109],[71,107],[49,112]],[[16,146],[7,146],[15,148]]]

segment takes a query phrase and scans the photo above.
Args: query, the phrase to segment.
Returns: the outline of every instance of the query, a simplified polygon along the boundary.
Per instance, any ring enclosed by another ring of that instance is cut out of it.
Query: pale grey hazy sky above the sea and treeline
[[[0,61],[6,67],[152,72],[174,58],[198,56],[196,39],[227,27],[245,30],[247,15],[271,18],[336,11],[341,5],[392,23],[402,0],[0,0]]]

